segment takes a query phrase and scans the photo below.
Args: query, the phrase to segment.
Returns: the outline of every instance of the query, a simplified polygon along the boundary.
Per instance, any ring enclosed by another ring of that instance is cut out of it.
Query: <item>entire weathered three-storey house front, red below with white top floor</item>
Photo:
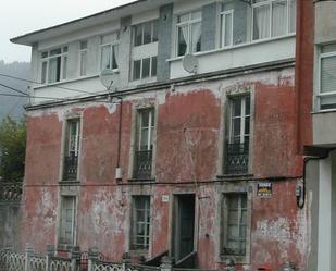
[[[311,218],[296,194],[311,140],[295,87],[304,9],[145,0],[14,38],[41,83],[27,107],[23,244],[308,270]]]

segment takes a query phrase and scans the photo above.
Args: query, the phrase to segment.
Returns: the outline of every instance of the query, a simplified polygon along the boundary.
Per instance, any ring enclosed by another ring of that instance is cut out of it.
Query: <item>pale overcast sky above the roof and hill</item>
[[[10,38],[65,23],[135,0],[1,0],[0,60],[29,61],[30,49]]]

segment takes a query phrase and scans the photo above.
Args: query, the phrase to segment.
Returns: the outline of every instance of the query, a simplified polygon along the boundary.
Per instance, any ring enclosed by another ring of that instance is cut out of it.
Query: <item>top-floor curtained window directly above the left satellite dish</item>
[[[101,37],[100,69],[115,70],[119,67],[119,35],[109,34]]]

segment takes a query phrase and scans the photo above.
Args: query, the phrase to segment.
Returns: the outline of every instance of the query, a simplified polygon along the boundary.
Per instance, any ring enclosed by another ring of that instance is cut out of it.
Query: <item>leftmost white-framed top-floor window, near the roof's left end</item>
[[[41,52],[41,83],[66,79],[67,46]]]

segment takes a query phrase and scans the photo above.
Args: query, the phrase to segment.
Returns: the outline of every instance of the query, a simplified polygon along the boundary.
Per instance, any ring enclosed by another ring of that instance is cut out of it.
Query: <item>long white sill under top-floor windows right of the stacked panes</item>
[[[259,44],[272,42],[272,41],[282,40],[282,39],[288,39],[288,38],[293,38],[295,36],[296,36],[296,34],[289,34],[289,35],[286,35],[286,36],[279,36],[279,37],[274,37],[274,38],[258,39],[258,40],[252,40],[252,41],[248,41],[248,42],[244,42],[244,44],[241,42],[241,44],[238,44],[238,45],[220,47],[220,48],[215,48],[215,49],[209,50],[209,51],[195,52],[192,54],[195,57],[206,56],[206,54],[210,54],[210,53],[216,53],[216,52],[222,52],[222,51],[229,51],[229,50],[235,50],[235,49],[238,49],[238,48],[254,46],[254,45],[259,45]],[[167,59],[166,61],[167,62],[175,62],[175,61],[182,60],[184,57],[185,56],[173,57],[171,59]]]

